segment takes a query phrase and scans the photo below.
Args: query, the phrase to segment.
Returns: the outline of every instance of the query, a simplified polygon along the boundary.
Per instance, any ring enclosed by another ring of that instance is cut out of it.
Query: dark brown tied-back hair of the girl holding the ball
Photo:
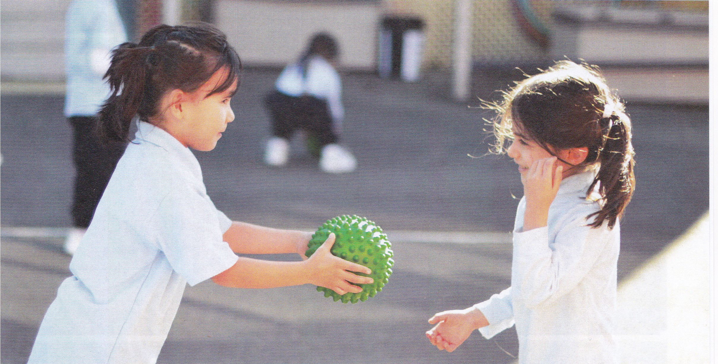
[[[147,121],[157,114],[164,93],[194,92],[221,69],[228,71],[225,80],[206,96],[230,88],[241,69],[225,34],[210,24],[159,25],[138,44],[118,45],[104,77],[111,95],[99,112],[98,134],[111,141],[129,141],[134,116]]]

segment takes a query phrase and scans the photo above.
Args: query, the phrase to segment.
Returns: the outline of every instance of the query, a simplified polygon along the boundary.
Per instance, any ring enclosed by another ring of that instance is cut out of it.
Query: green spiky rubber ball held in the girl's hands
[[[372,220],[360,218],[357,215],[342,215],[327,220],[312,235],[307,248],[307,257],[311,256],[317,248],[322,246],[329,234],[334,233],[336,240],[332,246],[332,254],[347,261],[367,266],[371,274],[357,273],[360,276],[370,276],[374,279],[372,284],[357,284],[363,288],[360,293],[348,292],[337,294],[337,292],[325,287],[317,287],[317,291],[324,291],[324,297],[332,297],[335,302],[340,299],[344,303],[357,303],[374,297],[376,292],[389,281],[391,266],[394,265],[391,243],[383,233],[381,227]]]

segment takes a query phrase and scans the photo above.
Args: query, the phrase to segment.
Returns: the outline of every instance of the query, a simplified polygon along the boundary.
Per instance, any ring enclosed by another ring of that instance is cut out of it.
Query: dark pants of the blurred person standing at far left
[[[73,126],[76,171],[71,214],[75,227],[87,228],[127,144],[101,141],[92,116],[72,116],[67,121]]]

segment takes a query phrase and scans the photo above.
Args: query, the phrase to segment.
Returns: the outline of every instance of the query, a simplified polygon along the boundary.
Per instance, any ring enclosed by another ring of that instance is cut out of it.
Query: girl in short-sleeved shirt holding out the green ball
[[[270,288],[312,283],[358,293],[368,268],[332,256],[334,235],[233,222],[216,209],[191,149],[210,151],[233,121],[240,60],[208,24],[160,25],[113,50],[106,139],[129,141],[57,290],[29,363],[155,363],[187,284]],[[136,120],[136,128],[131,123]],[[134,139],[130,130],[136,129]],[[299,253],[264,261],[236,253]]]

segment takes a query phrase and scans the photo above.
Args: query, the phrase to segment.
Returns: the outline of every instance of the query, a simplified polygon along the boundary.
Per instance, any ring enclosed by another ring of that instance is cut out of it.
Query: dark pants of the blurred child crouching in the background
[[[339,140],[324,100],[309,95],[294,97],[274,91],[266,95],[264,106],[271,114],[274,136],[291,139],[294,131],[304,129],[317,139],[320,148]]]

